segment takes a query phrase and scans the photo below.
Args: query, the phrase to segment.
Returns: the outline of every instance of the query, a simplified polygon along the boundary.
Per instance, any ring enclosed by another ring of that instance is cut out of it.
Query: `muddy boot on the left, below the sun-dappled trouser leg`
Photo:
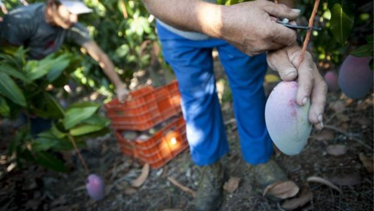
[[[200,168],[201,176],[192,210],[216,211],[223,200],[222,186],[226,178],[220,161]]]

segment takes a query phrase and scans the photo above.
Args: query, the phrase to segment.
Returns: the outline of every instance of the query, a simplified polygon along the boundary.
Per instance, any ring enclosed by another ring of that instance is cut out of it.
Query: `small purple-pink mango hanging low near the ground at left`
[[[87,178],[86,189],[88,195],[95,200],[101,200],[105,196],[104,181],[96,174],[90,174]]]

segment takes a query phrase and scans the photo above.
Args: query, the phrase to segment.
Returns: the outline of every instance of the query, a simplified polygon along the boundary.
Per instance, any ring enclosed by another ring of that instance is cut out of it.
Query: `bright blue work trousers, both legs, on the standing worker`
[[[265,124],[266,54],[248,56],[220,39],[189,40],[157,24],[163,56],[171,65],[181,93],[187,140],[196,165],[212,164],[229,152],[213,71],[212,49],[229,79],[242,155],[261,164],[272,155]]]

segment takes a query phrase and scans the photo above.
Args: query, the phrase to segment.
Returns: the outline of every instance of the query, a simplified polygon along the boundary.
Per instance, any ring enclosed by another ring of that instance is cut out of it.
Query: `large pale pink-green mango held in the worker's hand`
[[[274,144],[286,155],[297,155],[307,143],[312,124],[307,105],[296,103],[297,83],[282,81],[270,93],[265,106],[265,122]]]

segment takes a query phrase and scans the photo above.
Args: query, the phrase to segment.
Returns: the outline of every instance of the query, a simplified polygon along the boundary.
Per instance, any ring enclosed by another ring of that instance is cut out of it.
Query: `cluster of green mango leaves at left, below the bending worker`
[[[65,109],[55,97],[58,87],[67,84],[79,61],[70,53],[29,60],[23,47],[0,52],[0,117],[12,119],[19,113],[28,117],[9,147],[9,155],[16,155],[19,166],[27,161],[66,171],[53,152],[73,149],[72,140],[84,146],[87,136],[108,132],[110,122],[98,114],[100,104],[80,102]],[[51,120],[52,126],[31,134],[30,124],[35,117]]]

